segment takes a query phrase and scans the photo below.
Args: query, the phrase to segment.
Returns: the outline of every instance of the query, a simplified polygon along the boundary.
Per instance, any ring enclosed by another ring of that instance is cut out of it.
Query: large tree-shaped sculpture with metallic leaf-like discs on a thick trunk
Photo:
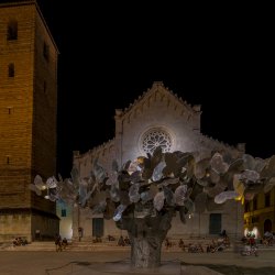
[[[88,178],[80,178],[76,167],[72,178],[64,180],[50,177],[44,184],[37,175],[31,189],[37,195],[46,189],[46,199],[77,202],[113,219],[129,233],[132,266],[157,267],[175,211],[185,223],[187,215],[204,212],[209,200],[251,200],[256,193],[268,191],[275,185],[274,177],[275,156],[262,160],[244,154],[233,158],[213,152],[200,160],[198,153],[163,153],[157,147],[121,169],[113,162],[109,174],[95,161]]]

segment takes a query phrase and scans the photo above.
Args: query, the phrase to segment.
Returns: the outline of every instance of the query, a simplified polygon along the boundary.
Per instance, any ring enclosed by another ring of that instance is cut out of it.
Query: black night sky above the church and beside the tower
[[[69,176],[72,152],[112,139],[114,109],[129,107],[155,80],[201,105],[204,134],[230,145],[246,143],[253,156],[275,154],[274,55],[272,35],[261,24],[239,22],[241,14],[201,18],[202,11],[158,2],[151,8],[37,2],[61,52],[63,176]]]

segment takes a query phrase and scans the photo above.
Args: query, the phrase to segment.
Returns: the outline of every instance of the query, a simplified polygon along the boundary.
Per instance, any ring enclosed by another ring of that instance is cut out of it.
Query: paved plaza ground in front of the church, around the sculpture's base
[[[48,244],[50,245],[50,244]],[[45,245],[46,246],[46,245]],[[0,251],[0,275],[265,275],[275,274],[275,249],[260,249],[260,256],[241,256],[234,250],[188,253],[163,250],[162,266],[131,270],[130,248],[95,246],[90,251],[29,251],[26,248]],[[53,244],[54,248],[54,244]],[[21,249],[21,250],[18,250]],[[183,263],[183,264],[180,264]]]

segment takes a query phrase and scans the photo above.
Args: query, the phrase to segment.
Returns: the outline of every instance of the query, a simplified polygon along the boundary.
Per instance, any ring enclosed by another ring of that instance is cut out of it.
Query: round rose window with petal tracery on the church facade
[[[156,147],[161,146],[163,152],[169,152],[172,139],[163,129],[153,129],[147,131],[142,139],[142,148],[145,153],[153,153]]]

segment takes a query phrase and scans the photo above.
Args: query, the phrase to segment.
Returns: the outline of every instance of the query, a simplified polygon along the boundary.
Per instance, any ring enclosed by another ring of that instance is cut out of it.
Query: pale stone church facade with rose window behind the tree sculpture
[[[139,97],[129,108],[116,110],[116,134],[112,140],[84,154],[74,152],[74,165],[80,176],[89,176],[92,162],[98,158],[101,166],[111,169],[113,160],[120,166],[140,155],[146,155],[156,146],[164,152],[199,151],[200,157],[210,156],[211,151],[229,152],[234,157],[242,156],[244,144],[230,146],[200,132],[200,106],[190,106],[173,94],[162,81]],[[190,216],[186,224],[176,216],[168,235],[175,238],[217,235],[223,229],[231,238],[243,235],[243,206],[240,201],[208,207],[204,213]],[[84,239],[92,237],[125,235],[116,228],[113,220],[103,220],[102,216],[91,216],[88,209],[73,209],[73,238],[78,233]]]

